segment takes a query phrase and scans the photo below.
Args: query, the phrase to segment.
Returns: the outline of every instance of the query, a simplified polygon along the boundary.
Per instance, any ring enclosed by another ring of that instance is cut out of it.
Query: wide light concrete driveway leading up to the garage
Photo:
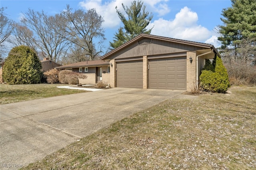
[[[17,169],[184,91],[112,88],[0,106],[1,169]]]

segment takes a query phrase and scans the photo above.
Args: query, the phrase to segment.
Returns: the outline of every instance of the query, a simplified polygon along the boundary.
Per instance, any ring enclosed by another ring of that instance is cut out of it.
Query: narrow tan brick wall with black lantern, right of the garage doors
[[[192,57],[192,63],[190,63]],[[196,83],[196,51],[187,52],[187,91],[190,91]]]

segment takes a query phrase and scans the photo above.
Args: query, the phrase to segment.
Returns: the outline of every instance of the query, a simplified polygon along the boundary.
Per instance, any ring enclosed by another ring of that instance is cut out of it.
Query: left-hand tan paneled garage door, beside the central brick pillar
[[[142,60],[116,63],[116,86],[143,88]]]

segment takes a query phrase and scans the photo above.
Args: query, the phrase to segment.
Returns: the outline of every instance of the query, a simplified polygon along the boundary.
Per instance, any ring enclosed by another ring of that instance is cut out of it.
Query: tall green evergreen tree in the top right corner
[[[256,37],[256,0],[231,0],[232,7],[222,10],[221,18],[224,25],[219,25],[218,40],[222,43],[222,49],[232,46],[239,47],[242,39],[254,39]],[[255,45],[255,41],[251,42]]]

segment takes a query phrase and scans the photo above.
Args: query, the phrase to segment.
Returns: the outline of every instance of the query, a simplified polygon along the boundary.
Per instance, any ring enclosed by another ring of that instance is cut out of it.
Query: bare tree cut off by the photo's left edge
[[[11,35],[13,26],[12,21],[9,20],[6,17],[6,14],[4,13],[4,10],[6,8],[2,7],[0,8],[0,53],[4,53],[5,47],[4,47],[4,41]],[[0,56],[2,60],[2,56]]]

